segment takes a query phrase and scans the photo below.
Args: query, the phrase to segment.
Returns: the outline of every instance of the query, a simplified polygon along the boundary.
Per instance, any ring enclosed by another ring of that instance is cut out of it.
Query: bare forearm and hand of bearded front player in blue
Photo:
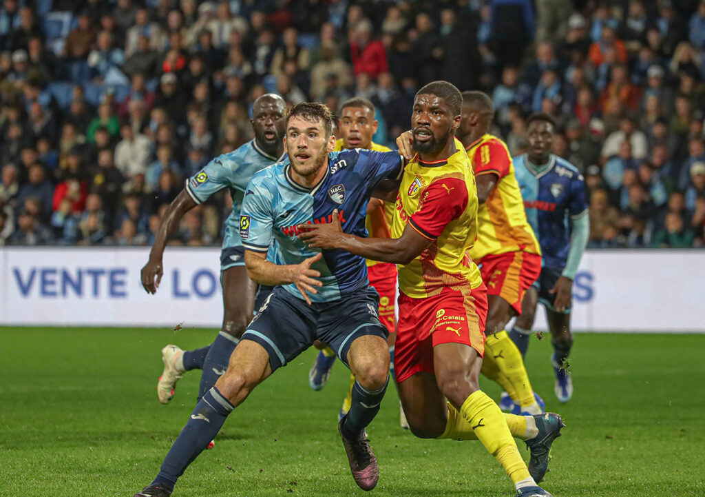
[[[276,287],[278,285],[295,285],[307,304],[311,305],[308,294],[317,294],[316,287],[322,287],[323,282],[316,280],[321,273],[311,269],[311,265],[321,260],[322,253],[304,259],[299,264],[274,264],[266,260],[266,252],[245,250],[245,266],[250,280],[260,285]]]

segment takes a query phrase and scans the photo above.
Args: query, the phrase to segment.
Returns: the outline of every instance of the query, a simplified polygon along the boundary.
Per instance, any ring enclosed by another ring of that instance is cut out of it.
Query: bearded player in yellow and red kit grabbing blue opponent
[[[477,233],[477,191],[467,154],[453,137],[461,103],[458,88],[446,81],[417,93],[411,123],[415,154],[404,150],[411,160],[396,197],[391,238],[344,234],[335,215],[331,224],[300,224],[299,237],[313,247],[398,264],[395,368],[412,433],[479,439],[511,477],[517,497],[546,497],[535,480],[546,472],[560,417],[502,414],[479,389],[487,299],[466,252]],[[533,473],[513,435],[528,439]]]

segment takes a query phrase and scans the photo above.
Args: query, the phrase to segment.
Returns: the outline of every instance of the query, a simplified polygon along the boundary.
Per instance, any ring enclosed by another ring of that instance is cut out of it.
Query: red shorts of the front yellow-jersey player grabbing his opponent
[[[482,357],[487,318],[484,285],[453,289],[424,299],[399,296],[399,323],[394,345],[397,383],[416,373],[434,374],[434,347],[441,343],[470,345]]]

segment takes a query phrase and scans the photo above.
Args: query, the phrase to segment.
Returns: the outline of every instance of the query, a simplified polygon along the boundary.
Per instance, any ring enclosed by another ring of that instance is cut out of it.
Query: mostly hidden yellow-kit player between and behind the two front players
[[[343,102],[341,115],[338,119],[338,140],[336,140],[336,151],[345,148],[365,148],[376,150],[377,152],[389,152],[390,148],[379,145],[372,141],[374,133],[377,131],[377,121],[374,119],[374,104],[367,98],[353,97]],[[393,203],[383,202],[377,198],[370,198],[367,205],[367,219],[365,226],[369,236],[389,238],[391,236],[391,217],[394,210]],[[389,364],[390,374],[394,378],[394,340],[396,339],[396,286],[397,271],[396,265],[392,263],[380,263],[367,259],[367,277],[369,285],[379,294],[379,320],[389,331],[387,343],[391,362]],[[318,342],[315,347],[321,349],[309,371],[309,385],[314,390],[321,390],[326,385],[331,374],[331,368],[336,360],[336,353],[330,347]],[[353,385],[355,376],[350,375],[350,387],[338,417],[343,417],[350,410],[352,402]],[[400,408],[400,424],[408,429],[409,425],[404,417],[404,411]]]

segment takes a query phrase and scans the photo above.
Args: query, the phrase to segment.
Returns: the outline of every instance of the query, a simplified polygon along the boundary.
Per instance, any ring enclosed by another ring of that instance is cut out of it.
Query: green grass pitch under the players
[[[200,374],[157,402],[159,350],[213,330],[0,328],[0,496],[132,496],[157,473],[192,409]],[[575,396],[559,405],[549,340],[527,367],[568,428],[544,488],[556,497],[705,495],[705,338],[577,335]],[[175,497],[360,496],[338,439],[348,373],[307,385],[309,350],[231,414]],[[483,383],[498,398],[496,385]],[[424,441],[398,425],[396,392],[368,429],[381,476],[369,496],[512,496],[477,442]],[[528,457],[523,443],[522,454]]]

